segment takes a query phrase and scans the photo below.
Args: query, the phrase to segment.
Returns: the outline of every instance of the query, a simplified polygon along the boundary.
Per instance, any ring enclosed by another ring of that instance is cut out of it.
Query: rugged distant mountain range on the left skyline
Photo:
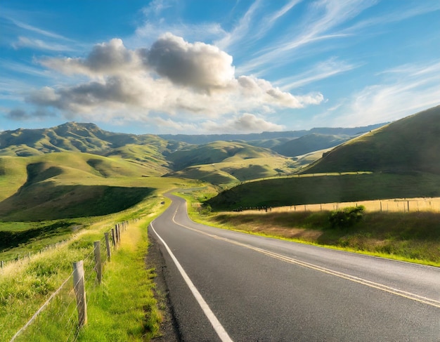
[[[186,143],[150,134],[103,131],[95,124],[67,122],[51,129],[17,129],[0,132],[0,156],[30,157],[52,152],[85,152],[129,159],[148,166],[151,176],[168,173],[166,155]]]

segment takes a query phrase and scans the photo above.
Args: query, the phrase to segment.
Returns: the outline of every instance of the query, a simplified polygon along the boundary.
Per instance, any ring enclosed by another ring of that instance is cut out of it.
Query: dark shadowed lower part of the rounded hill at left
[[[27,184],[0,202],[0,218],[1,221],[40,221],[108,215],[138,204],[153,190],[52,182]]]

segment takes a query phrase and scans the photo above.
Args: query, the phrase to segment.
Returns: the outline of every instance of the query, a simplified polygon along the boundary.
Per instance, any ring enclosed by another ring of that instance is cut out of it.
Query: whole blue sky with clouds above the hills
[[[290,131],[440,104],[438,0],[2,0],[0,52],[0,131]]]

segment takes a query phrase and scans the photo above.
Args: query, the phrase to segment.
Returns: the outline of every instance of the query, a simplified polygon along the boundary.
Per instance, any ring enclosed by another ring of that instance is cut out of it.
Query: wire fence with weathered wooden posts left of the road
[[[90,284],[89,280],[93,276],[95,277],[94,284],[97,286],[101,284],[103,266],[110,262],[112,251],[117,249],[121,242],[122,232],[127,230],[128,225],[128,221],[117,223],[114,228],[104,232],[99,241],[93,242],[93,251],[83,260],[73,263],[73,270],[67,279],[48,297],[31,319],[15,333],[11,342],[25,334],[25,330],[31,324],[35,324],[37,317],[50,305],[55,307],[53,308],[54,318],[55,316],[62,317],[67,321],[66,341],[76,341],[79,329],[87,324],[86,284]]]

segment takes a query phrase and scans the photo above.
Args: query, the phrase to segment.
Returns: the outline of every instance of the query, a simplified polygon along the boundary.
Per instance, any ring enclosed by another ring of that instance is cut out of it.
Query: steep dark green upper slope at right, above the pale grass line
[[[440,174],[440,106],[350,140],[302,173],[349,171]]]

